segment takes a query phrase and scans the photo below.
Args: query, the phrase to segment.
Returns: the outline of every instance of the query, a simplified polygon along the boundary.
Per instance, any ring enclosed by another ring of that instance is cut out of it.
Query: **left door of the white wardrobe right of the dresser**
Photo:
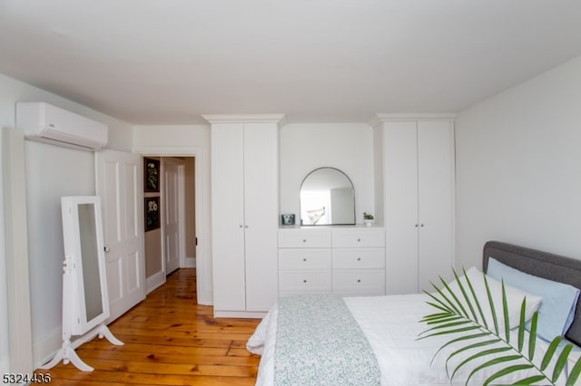
[[[386,231],[386,291],[418,291],[417,122],[389,122],[383,135]]]

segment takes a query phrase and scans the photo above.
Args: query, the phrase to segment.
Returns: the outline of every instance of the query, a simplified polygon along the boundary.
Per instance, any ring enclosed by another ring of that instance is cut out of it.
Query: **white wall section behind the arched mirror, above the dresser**
[[[366,123],[294,123],[280,133],[280,209],[300,224],[300,184],[313,169],[332,167],[355,187],[356,222],[374,213],[373,130]]]

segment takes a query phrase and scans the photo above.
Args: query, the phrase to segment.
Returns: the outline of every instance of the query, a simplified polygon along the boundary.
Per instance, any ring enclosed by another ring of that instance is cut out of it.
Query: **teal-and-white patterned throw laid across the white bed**
[[[378,362],[336,295],[283,297],[274,350],[275,385],[379,385]]]

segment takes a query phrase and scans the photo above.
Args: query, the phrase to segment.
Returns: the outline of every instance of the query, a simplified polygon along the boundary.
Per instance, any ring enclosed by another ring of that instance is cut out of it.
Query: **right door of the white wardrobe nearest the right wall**
[[[454,240],[452,123],[419,121],[419,291],[450,279]]]

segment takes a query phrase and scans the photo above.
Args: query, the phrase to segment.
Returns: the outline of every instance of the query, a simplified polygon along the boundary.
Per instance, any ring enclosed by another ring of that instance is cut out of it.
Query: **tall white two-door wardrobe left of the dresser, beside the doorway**
[[[204,115],[212,124],[215,316],[264,314],[278,300],[282,115]]]

